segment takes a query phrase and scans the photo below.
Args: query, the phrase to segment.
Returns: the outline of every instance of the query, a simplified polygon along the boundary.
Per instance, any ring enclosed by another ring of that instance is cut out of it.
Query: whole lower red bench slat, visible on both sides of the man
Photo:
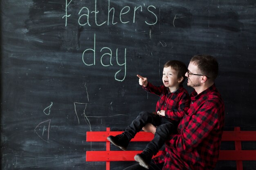
[[[134,161],[142,151],[86,151],[86,161]],[[160,155],[161,151],[156,156]],[[220,161],[254,161],[256,150],[220,150]]]

